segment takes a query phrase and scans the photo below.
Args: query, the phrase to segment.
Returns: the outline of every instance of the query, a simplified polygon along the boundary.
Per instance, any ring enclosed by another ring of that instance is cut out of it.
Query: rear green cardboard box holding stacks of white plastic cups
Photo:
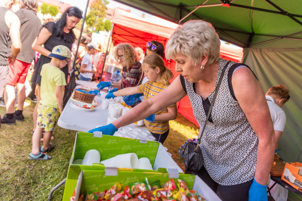
[[[72,164],[76,159],[83,159],[85,153],[90,149],[96,149],[101,154],[101,160],[106,160],[118,154],[136,153],[138,158],[146,157],[150,160],[153,167],[149,172],[164,172],[168,170],[171,174],[178,175],[183,173],[182,169],[176,162],[168,155],[164,147],[159,142],[144,141],[137,139],[130,139],[124,137],[115,137],[108,135],[98,135],[98,133],[84,133],[77,132],[76,140],[73,146],[72,157],[69,163],[69,170],[67,174],[64,197],[71,195],[76,188],[76,182],[82,170],[104,171],[105,166],[101,164],[93,165],[78,165]],[[120,170],[125,168],[120,168]],[[140,169],[129,169],[130,171],[143,171]],[[129,172],[129,171],[128,171]],[[71,193],[71,194],[70,194]],[[65,200],[65,199],[63,199]],[[66,199],[67,200],[67,199]],[[68,199],[69,200],[69,199]]]

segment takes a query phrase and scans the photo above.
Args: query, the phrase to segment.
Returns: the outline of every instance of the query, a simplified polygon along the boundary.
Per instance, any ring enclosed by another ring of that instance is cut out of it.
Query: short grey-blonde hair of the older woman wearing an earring
[[[194,65],[208,55],[207,65],[219,59],[220,40],[214,27],[204,20],[189,20],[179,25],[167,42],[165,55],[174,59],[178,54],[188,56]]]

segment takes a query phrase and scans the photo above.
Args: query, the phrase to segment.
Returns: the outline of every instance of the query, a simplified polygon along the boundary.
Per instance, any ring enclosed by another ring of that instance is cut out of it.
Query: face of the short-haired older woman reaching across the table
[[[183,54],[175,55],[175,71],[180,72],[185,79],[189,82],[197,82],[201,80],[201,62],[198,62],[197,65],[194,65],[192,61]]]

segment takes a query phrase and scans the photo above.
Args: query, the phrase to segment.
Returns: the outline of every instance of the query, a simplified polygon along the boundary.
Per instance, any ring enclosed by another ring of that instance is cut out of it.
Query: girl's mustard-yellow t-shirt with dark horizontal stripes
[[[164,90],[168,86],[169,85],[165,85],[164,83],[161,83],[161,82],[158,83],[158,82],[147,81],[147,82],[137,86],[137,89],[141,93],[144,94],[144,100],[146,100],[146,99],[152,98],[153,96],[156,96],[159,92],[161,92],[162,90]],[[176,103],[173,104],[173,105],[170,105],[169,107],[172,107],[172,106],[176,106]],[[164,114],[164,113],[167,113],[167,112],[168,112],[168,108],[164,108],[164,109],[156,112],[155,115],[156,114]],[[151,121],[147,121],[145,119],[144,124],[151,133],[163,134],[169,129],[169,121],[151,122]]]

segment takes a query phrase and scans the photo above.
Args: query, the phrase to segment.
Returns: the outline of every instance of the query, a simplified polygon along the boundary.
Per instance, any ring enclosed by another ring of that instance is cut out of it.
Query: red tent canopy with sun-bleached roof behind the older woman
[[[115,8],[113,16],[112,42],[114,45],[119,43],[130,43],[133,47],[140,46],[146,50],[146,43],[151,40],[158,41],[164,46],[175,31],[178,24],[161,19],[159,17],[143,18],[127,11]],[[237,46],[221,43],[220,57],[226,60],[241,61],[243,49]],[[174,80],[180,73],[175,71],[175,61],[167,61],[166,67],[170,68],[174,74]],[[171,82],[172,82],[171,80]],[[189,121],[197,126],[198,123],[193,115],[193,109],[188,96],[185,96],[177,103],[177,110]]]

